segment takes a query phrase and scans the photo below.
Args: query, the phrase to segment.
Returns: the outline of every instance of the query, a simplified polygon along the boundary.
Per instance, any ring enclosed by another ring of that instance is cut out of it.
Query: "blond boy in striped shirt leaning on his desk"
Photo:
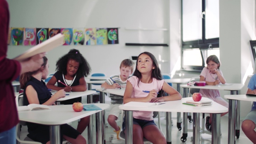
[[[114,75],[109,78],[105,83],[101,85],[105,89],[116,89],[120,88],[122,84],[126,84],[127,79],[133,72],[134,62],[130,59],[125,59],[120,64],[120,75]],[[108,115],[108,124],[111,125],[116,132],[116,138],[119,139],[120,127],[117,126],[116,120],[121,113],[121,109],[119,109],[119,105],[123,103],[123,96],[122,95],[113,95],[110,94],[111,98],[111,106],[110,112]]]

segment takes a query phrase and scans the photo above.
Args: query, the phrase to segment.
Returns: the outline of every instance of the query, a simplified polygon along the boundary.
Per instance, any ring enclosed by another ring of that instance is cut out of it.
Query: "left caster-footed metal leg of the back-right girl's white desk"
[[[183,98],[188,97],[188,88],[183,88]],[[182,137],[180,138],[181,141],[185,142],[186,138],[188,137],[188,113],[183,112],[183,133]]]

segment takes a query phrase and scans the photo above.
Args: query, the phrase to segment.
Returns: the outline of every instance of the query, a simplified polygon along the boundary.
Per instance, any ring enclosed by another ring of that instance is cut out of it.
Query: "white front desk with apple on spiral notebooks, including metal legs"
[[[200,140],[200,113],[212,113],[212,144],[220,144],[220,118],[221,113],[227,112],[227,107],[224,107],[214,101],[210,106],[198,106],[193,107],[189,105],[182,104],[187,100],[192,100],[192,98],[182,98],[179,101],[166,101],[166,104],[161,104],[154,107],[148,108],[138,108],[138,107],[125,107],[120,105],[119,109],[125,111],[125,144],[132,144],[132,130],[133,130],[133,112],[132,111],[157,111],[166,112],[166,141],[167,144],[172,143],[172,126],[171,126],[171,112],[193,112],[193,144],[199,144]],[[211,101],[209,98],[202,98],[204,101]],[[199,113],[200,112],[200,113]]]

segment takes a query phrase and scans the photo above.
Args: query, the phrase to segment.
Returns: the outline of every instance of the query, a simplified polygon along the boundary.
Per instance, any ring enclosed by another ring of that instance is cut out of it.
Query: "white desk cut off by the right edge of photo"
[[[229,102],[229,111],[228,111],[228,143],[235,144],[235,135],[239,138],[239,131],[236,130],[236,121],[239,121],[240,115],[236,115],[236,101],[239,103],[240,101],[256,101],[256,97],[248,96],[248,95],[224,95],[224,98],[228,99]],[[251,106],[250,106],[251,107]],[[240,111],[240,107],[237,107],[237,111]]]

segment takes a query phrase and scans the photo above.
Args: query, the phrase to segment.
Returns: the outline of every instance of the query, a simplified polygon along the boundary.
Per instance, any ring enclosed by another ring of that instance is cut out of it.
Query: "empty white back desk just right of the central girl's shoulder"
[[[190,78],[171,78],[171,79],[165,79],[166,83],[173,83],[177,84],[177,91],[180,93],[180,84],[188,83],[190,81]],[[191,115],[189,116],[189,120],[192,120]],[[177,128],[181,130],[181,115],[180,112],[177,112]]]

